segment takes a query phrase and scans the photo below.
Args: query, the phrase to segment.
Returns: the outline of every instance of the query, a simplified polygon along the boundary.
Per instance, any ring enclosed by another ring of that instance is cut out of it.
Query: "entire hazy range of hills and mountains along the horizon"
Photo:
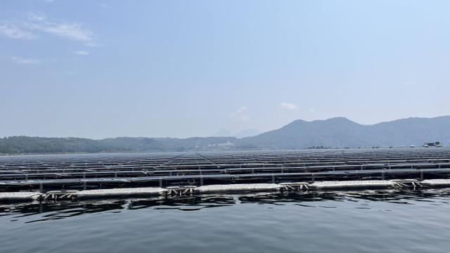
[[[226,134],[226,130],[222,131]],[[228,132],[229,133],[229,132]],[[42,138],[12,136],[0,138],[0,153],[98,153],[146,151],[201,151],[290,149],[308,147],[367,147],[450,143],[450,116],[398,119],[362,125],[344,117],[306,122],[295,120],[281,129],[257,136],[194,138],[131,138],[103,140],[87,138]]]

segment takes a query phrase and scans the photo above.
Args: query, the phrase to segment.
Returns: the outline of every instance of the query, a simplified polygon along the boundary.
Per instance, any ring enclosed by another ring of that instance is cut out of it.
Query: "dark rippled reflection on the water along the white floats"
[[[113,200],[86,200],[61,202],[27,202],[0,205],[0,216],[11,216],[10,221],[35,216],[25,223],[69,219],[83,214],[102,212],[120,213],[124,209],[154,209],[157,211],[198,211],[212,207],[227,207],[255,203],[261,205],[297,205],[300,207],[337,208],[326,200],[338,202],[360,202],[355,209],[371,209],[366,202],[390,202],[399,205],[414,205],[428,202],[430,205],[448,205],[450,188],[427,190],[363,190],[358,192],[326,191],[298,193],[255,193],[245,195],[200,195],[191,197],[127,198]],[[366,200],[366,202],[364,202]],[[270,208],[270,207],[269,207]],[[389,211],[389,209],[387,209]],[[38,214],[38,215],[37,215]]]

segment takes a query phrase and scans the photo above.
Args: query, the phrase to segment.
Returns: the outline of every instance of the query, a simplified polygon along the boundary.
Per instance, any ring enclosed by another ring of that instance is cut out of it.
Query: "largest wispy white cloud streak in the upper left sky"
[[[94,43],[94,33],[83,28],[83,24],[77,22],[57,23],[57,22],[38,22],[27,23],[26,27],[32,30],[40,30],[67,39],[81,41],[86,46],[96,46]]]

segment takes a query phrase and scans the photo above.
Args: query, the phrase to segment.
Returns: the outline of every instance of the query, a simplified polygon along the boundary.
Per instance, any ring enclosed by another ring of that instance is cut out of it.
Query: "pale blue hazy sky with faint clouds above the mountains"
[[[450,115],[450,1],[3,0],[0,136]]]

